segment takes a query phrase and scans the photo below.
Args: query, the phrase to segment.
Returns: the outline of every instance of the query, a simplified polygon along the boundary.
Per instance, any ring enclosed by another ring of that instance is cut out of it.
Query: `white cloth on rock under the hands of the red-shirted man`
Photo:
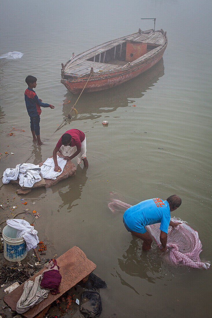
[[[60,176],[66,165],[66,160],[57,156],[58,166],[62,169],[60,172],[54,171],[54,161],[53,158],[48,158],[42,164],[40,174],[43,178],[55,180],[57,176]]]

